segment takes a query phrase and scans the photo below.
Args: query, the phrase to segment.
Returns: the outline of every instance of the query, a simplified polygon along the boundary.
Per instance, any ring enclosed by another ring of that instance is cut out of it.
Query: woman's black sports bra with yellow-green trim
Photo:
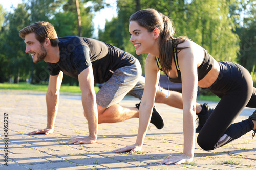
[[[202,80],[207,73],[211,70],[213,64],[214,64],[214,58],[207,52],[207,50],[204,50],[204,59],[202,64],[197,67],[197,72],[198,72],[198,81]],[[174,56],[174,62],[175,62],[175,66],[176,66],[176,70],[178,73],[178,77],[175,79],[170,78],[166,73],[165,75],[167,77],[169,77],[169,80],[173,83],[181,83],[181,73],[180,73],[180,68],[179,68],[179,64],[178,64],[178,58],[177,58],[177,53],[176,53],[176,48],[173,48],[173,56]],[[160,65],[159,59],[158,57],[155,57],[156,59],[156,63],[158,68],[162,71],[162,67]]]

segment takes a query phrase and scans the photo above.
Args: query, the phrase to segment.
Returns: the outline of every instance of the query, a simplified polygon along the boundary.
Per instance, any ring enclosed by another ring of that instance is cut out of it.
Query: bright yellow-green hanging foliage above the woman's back
[[[188,36],[200,44],[217,61],[236,61],[239,37],[229,17],[229,1],[192,1],[188,5]],[[175,20],[175,19],[174,19]]]

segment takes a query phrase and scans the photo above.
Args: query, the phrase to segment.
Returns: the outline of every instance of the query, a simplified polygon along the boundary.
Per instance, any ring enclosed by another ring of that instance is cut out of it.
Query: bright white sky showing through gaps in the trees
[[[116,0],[106,0],[107,3],[110,3],[113,7],[112,8],[104,8],[101,9],[99,12],[95,13],[95,17],[93,19],[94,22],[94,36],[98,35],[98,28],[103,29],[105,26],[105,21],[110,21],[113,16],[117,16],[116,13]],[[22,3],[22,0],[1,0],[0,4],[6,11],[11,11],[11,6],[13,5],[14,8],[17,8],[17,5]]]

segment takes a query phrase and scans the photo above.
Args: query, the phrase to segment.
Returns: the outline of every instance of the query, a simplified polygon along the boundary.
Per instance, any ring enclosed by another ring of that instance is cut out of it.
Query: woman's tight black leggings
[[[197,138],[198,144],[204,150],[215,149],[224,134],[233,140],[253,129],[250,119],[232,124],[245,107],[256,108],[256,88],[253,87],[250,73],[239,64],[219,64],[221,69],[218,79],[206,89],[219,96],[221,100]]]

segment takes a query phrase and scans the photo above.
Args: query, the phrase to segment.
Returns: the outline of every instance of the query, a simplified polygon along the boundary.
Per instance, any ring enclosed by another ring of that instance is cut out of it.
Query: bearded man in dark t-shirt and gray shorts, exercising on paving
[[[139,118],[139,104],[134,108],[118,105],[126,94],[142,98],[144,78],[141,76],[140,63],[134,56],[95,39],[75,36],[58,38],[54,27],[48,22],[27,26],[20,30],[19,36],[24,39],[26,53],[32,56],[33,62],[44,60],[50,71],[46,93],[47,127],[28,134],[53,133],[63,74],[79,81],[84,116],[88,120],[89,128],[89,136],[72,139],[68,144],[95,143],[98,123]],[[97,94],[94,83],[104,83]],[[173,102],[167,103],[165,94],[158,91],[155,102],[182,109],[180,93],[171,92],[168,98],[172,98]],[[199,117],[201,127],[211,111],[206,104],[197,104],[197,113],[201,112],[203,117]],[[158,129],[164,125],[155,108],[152,111],[151,123]]]

